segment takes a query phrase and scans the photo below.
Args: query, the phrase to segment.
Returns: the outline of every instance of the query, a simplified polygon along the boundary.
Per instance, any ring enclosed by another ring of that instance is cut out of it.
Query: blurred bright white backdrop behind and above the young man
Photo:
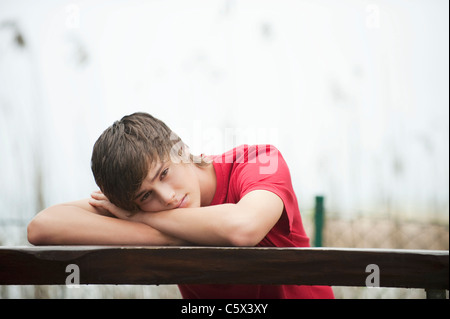
[[[301,211],[448,222],[448,6],[0,0],[0,219],[88,197],[97,137],[146,111],[193,153],[275,144]]]

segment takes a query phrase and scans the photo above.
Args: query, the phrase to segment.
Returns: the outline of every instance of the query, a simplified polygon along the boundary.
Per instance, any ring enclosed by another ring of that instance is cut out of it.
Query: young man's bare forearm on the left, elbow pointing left
[[[36,215],[28,225],[28,239],[34,245],[188,244],[149,225],[94,214],[72,205],[56,205]]]

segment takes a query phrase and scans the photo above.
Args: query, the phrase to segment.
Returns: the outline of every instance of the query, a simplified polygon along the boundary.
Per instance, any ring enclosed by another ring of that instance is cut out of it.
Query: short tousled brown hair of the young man
[[[114,205],[136,211],[139,207],[134,197],[149,169],[185,152],[184,143],[162,121],[147,113],[134,113],[100,135],[91,168],[95,182]]]

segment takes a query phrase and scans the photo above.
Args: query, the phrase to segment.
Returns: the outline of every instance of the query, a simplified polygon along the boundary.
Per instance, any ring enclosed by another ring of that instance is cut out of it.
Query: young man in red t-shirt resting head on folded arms
[[[28,226],[45,244],[308,247],[290,173],[270,145],[195,157],[163,122],[125,116],[94,145],[101,191]],[[184,298],[333,298],[330,287],[180,285]]]

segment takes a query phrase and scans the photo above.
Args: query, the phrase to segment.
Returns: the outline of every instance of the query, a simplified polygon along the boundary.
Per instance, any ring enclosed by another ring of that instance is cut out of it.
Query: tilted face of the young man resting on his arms
[[[156,163],[144,179],[135,203],[145,212],[200,207],[200,186],[194,164]]]

